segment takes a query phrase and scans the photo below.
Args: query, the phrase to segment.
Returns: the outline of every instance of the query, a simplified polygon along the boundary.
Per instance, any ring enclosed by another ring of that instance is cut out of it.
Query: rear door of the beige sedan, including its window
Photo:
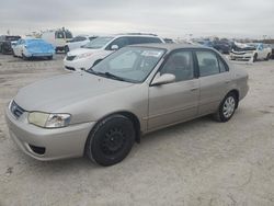
[[[231,77],[226,62],[215,52],[196,50],[199,71],[198,115],[215,112],[230,89]]]

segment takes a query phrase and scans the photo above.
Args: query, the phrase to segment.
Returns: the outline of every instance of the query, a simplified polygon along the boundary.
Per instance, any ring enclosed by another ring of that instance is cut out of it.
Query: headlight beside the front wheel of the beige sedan
[[[31,112],[27,119],[30,124],[39,127],[60,128],[68,126],[70,122],[70,114],[48,114],[42,112]]]

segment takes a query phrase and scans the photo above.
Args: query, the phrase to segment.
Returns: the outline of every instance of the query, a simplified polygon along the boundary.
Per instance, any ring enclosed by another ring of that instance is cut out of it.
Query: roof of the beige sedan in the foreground
[[[193,45],[193,44],[137,44],[137,45],[129,45],[129,46],[138,46],[138,47],[150,47],[150,48],[163,48],[167,50],[174,50],[180,48],[207,48],[214,50],[210,47],[202,46],[202,45]]]

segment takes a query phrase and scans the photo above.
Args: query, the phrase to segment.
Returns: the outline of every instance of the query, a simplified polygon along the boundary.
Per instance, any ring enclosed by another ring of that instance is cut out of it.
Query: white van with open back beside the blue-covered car
[[[56,52],[62,52],[65,50],[67,42],[72,39],[72,34],[70,31],[65,28],[49,30],[43,32],[41,38],[52,44]]]

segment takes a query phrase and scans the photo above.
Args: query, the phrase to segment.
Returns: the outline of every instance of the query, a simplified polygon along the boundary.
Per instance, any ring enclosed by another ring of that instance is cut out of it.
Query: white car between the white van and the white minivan
[[[65,45],[65,53],[68,53],[76,48],[81,48],[82,46],[87,45],[89,42],[93,41],[96,37],[98,36],[94,35],[78,35]]]

